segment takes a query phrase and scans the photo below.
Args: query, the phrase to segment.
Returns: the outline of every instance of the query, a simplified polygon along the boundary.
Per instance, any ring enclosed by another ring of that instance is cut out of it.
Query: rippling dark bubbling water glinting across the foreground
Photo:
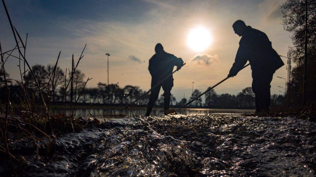
[[[114,119],[57,140],[23,176],[315,176],[316,125],[196,115]]]

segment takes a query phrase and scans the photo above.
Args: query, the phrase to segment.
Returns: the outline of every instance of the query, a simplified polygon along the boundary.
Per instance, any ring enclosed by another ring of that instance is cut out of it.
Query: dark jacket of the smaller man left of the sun
[[[163,52],[161,56],[154,54],[149,59],[148,70],[152,77],[152,82],[158,82],[159,80],[163,80],[169,74],[173,72],[174,66],[182,66],[183,60],[181,58],[177,58],[173,54],[169,54],[167,52]],[[173,77],[168,77],[167,82],[173,81]]]

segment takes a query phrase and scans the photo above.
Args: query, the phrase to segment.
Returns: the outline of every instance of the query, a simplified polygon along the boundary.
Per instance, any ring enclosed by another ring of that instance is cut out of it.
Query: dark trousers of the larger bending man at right
[[[256,111],[265,111],[270,106],[270,88],[274,73],[252,74],[252,91],[255,94]]]

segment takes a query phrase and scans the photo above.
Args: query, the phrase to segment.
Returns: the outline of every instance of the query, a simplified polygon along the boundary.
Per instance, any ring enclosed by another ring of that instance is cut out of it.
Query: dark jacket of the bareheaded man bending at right
[[[251,26],[246,27],[240,39],[235,62],[229,73],[235,76],[246,64],[247,60],[252,69],[252,77],[274,73],[284,65],[280,56],[272,48],[268,36]]]

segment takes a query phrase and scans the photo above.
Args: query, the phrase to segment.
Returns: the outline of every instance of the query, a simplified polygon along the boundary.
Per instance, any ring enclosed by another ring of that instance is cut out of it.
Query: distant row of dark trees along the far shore
[[[106,84],[99,82],[97,87],[86,88],[86,81],[84,80],[85,74],[80,70],[76,70],[73,73],[73,87],[67,88],[67,83],[70,80],[70,71],[63,71],[59,67],[56,67],[56,72],[52,78],[52,72],[54,67],[51,65],[34,65],[32,66],[32,71],[37,78],[40,90],[44,95],[46,101],[50,103],[54,102],[73,102],[82,104],[105,104],[105,105],[126,105],[134,102],[146,91],[141,89],[139,86],[126,85],[121,88],[118,84]],[[9,76],[8,73],[6,73]],[[0,83],[3,85],[3,77],[0,75]],[[33,76],[30,72],[26,74],[21,82],[27,88],[28,95],[32,95],[34,100],[40,100],[40,95],[37,92],[37,85]],[[48,84],[49,83],[49,84]],[[11,100],[15,100],[16,103],[19,102],[19,97],[21,91],[20,86],[11,82],[10,96],[13,97]],[[5,89],[2,88],[5,93]],[[72,92],[72,93],[71,93]],[[177,101],[176,98],[171,95],[170,105],[171,106],[183,106],[188,101],[197,97],[201,94],[198,89],[195,89],[189,100],[182,98]],[[5,99],[5,94],[1,94],[1,100]],[[15,99],[14,99],[15,98]],[[137,101],[137,105],[146,105],[149,100],[149,94],[142,97]],[[254,93],[251,87],[246,87],[242,89],[237,95],[231,94],[217,94],[214,89],[210,90],[204,95],[204,103],[202,103],[202,98],[198,98],[191,103],[191,107],[208,107],[208,108],[254,108],[255,99]],[[271,105],[283,105],[284,97],[283,95],[272,95]],[[163,106],[163,96],[162,94],[156,101],[156,106]]]

